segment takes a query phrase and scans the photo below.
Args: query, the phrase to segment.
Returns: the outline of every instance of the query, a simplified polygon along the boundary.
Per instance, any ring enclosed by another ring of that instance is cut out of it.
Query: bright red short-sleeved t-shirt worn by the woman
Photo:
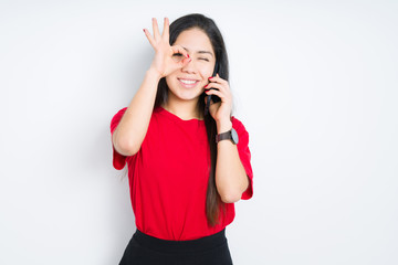
[[[112,119],[116,129],[126,108]],[[242,199],[253,194],[249,134],[237,118],[232,127],[239,136],[238,151],[250,186]],[[127,162],[130,199],[139,231],[170,241],[196,240],[223,230],[234,218],[234,204],[227,203],[220,224],[208,225],[206,192],[210,170],[210,149],[203,120],[182,120],[159,107],[153,112],[139,151],[125,157],[114,149],[113,165]],[[221,214],[222,215],[222,214]]]

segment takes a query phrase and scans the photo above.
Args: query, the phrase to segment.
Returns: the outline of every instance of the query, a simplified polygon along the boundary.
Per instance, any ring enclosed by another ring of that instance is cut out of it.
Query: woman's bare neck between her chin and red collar
[[[202,119],[202,114],[198,109],[198,99],[181,100],[170,95],[163,107],[181,119]]]

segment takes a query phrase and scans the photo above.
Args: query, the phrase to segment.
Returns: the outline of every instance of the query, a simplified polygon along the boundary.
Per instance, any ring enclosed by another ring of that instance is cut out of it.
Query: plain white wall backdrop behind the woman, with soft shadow
[[[135,231],[109,123],[150,19],[214,19],[254,195],[237,265],[398,264],[397,1],[0,0],[0,264],[117,264]]]

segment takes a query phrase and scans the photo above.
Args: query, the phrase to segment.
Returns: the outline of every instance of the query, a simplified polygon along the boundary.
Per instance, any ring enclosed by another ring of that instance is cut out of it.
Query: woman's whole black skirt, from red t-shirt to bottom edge
[[[226,230],[192,241],[166,241],[139,230],[129,241],[119,265],[231,265]]]

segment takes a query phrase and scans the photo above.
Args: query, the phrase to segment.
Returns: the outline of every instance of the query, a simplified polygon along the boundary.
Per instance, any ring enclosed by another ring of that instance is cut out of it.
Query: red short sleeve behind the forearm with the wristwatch
[[[243,124],[232,117],[232,127],[238,134],[239,141],[238,141],[238,152],[240,160],[243,165],[243,168],[247,172],[247,176],[249,178],[249,187],[248,189],[242,193],[242,200],[249,200],[253,195],[253,170],[251,167],[251,153],[249,149],[249,132],[245,130]]]

